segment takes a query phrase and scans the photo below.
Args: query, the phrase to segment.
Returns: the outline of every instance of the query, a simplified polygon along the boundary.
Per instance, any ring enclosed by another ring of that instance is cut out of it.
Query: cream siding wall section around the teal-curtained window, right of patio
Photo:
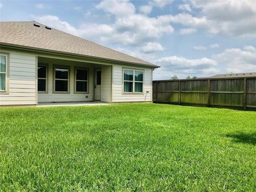
[[[143,93],[123,93],[123,68],[144,70]],[[113,65],[112,71],[112,102],[142,102],[152,101],[152,70],[146,67],[129,65]],[[146,93],[149,91],[149,93]]]

